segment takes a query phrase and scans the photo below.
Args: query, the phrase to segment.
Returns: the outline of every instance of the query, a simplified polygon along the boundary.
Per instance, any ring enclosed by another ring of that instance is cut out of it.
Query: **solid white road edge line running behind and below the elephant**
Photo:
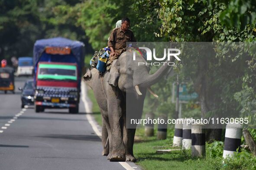
[[[85,107],[85,113],[86,114],[86,118],[88,120],[88,122],[90,123],[92,129],[94,130],[94,132],[100,137],[101,139],[101,133],[97,128],[97,125],[94,123],[93,121],[93,117],[91,116],[91,114],[88,113],[92,113],[92,103],[90,104],[88,101],[90,101],[90,99],[87,97],[87,87],[85,85],[85,82],[81,82],[81,91],[82,91],[82,101],[84,103],[84,107]],[[121,164],[126,170],[134,170],[133,167],[131,167],[129,164],[127,164],[126,162],[119,162],[119,164]],[[136,167],[137,168],[137,167]]]

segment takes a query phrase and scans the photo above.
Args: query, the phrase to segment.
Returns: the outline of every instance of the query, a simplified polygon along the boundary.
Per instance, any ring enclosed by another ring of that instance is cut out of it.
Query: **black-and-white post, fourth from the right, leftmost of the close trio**
[[[173,136],[173,147],[179,147],[182,145],[182,130],[183,130],[183,118],[176,119],[175,130]]]

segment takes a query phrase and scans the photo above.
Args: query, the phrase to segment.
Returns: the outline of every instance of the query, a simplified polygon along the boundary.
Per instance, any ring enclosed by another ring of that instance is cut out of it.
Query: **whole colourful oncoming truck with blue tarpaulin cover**
[[[35,111],[68,108],[78,113],[84,44],[66,38],[37,40],[34,45]]]

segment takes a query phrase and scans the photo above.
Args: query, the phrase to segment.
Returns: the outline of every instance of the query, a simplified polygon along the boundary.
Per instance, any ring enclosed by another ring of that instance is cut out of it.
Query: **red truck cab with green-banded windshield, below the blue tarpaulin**
[[[78,67],[75,63],[39,62],[36,74],[36,112],[69,108],[78,113]]]

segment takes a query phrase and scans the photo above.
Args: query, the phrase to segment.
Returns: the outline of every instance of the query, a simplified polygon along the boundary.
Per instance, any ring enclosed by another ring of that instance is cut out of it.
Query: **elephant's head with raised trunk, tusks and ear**
[[[154,94],[150,88],[156,84],[165,73],[172,71],[172,66],[162,65],[154,74],[149,74],[149,66],[145,64],[146,60],[142,55],[136,54],[136,60],[133,60],[133,52],[125,52],[120,55],[118,60],[114,60],[110,69],[108,83],[117,86],[124,92],[135,92],[142,95],[140,88],[148,88],[149,92]]]

